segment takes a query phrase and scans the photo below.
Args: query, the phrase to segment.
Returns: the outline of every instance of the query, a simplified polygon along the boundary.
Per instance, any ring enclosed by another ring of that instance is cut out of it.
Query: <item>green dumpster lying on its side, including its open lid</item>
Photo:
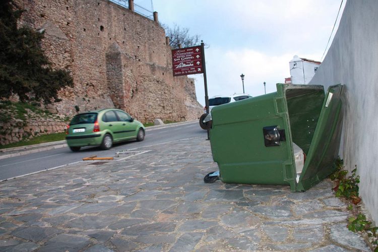
[[[304,192],[335,171],[342,85],[277,84],[277,92],[214,107],[210,142],[226,183]]]

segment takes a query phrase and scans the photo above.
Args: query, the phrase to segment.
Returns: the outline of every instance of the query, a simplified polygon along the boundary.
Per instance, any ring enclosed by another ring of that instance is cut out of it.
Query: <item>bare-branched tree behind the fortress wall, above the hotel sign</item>
[[[199,35],[191,36],[188,28],[180,28],[177,24],[173,25],[173,29],[167,25],[162,25],[162,27],[166,36],[169,37],[169,45],[174,49],[177,49],[179,44],[182,47],[190,47],[198,45],[200,42]]]

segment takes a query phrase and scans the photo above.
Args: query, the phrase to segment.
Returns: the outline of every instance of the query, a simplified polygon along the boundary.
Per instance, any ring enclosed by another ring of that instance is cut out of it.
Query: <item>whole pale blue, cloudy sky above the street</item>
[[[158,12],[161,24],[188,28],[205,48],[209,98],[276,91],[290,77],[294,55],[321,61],[346,0],[134,0]],[[328,45],[327,49],[329,48]],[[325,57],[325,56],[324,56]],[[324,58],[323,57],[323,58]],[[205,105],[203,74],[195,78],[197,100]]]

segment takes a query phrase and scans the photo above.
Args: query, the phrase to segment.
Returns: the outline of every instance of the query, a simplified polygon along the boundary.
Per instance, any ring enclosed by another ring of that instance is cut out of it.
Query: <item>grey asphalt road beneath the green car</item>
[[[172,125],[161,129],[149,130],[147,128],[146,138],[143,142],[130,141],[115,144],[110,150],[106,151],[101,150],[99,147],[85,147],[79,152],[72,152],[68,147],[65,147],[2,159],[0,160],[0,181],[46,169],[64,169],[66,165],[82,161],[84,157],[92,155],[97,155],[97,157],[114,157],[118,151],[132,150],[194,137],[207,138],[206,131],[200,128],[198,121]]]

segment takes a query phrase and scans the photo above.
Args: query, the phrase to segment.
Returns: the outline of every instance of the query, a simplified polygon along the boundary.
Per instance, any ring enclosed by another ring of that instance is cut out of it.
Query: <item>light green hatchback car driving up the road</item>
[[[113,143],[143,141],[145,127],[120,109],[99,109],[77,114],[67,125],[67,144],[72,151],[84,146],[109,150]]]

